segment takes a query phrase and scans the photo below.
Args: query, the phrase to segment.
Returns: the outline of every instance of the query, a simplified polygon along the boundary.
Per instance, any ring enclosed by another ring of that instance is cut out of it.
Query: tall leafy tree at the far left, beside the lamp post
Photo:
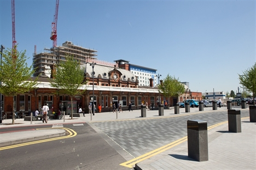
[[[27,66],[26,50],[19,52],[14,48],[5,50],[2,54],[3,60],[0,65],[0,81],[2,86],[0,92],[7,96],[13,96],[13,121],[14,124],[14,99],[17,94],[28,92],[38,84],[38,77],[32,78],[34,70]]]

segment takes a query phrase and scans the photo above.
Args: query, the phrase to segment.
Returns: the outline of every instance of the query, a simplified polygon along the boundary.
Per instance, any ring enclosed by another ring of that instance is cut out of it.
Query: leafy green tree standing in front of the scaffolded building
[[[73,96],[83,94],[86,89],[82,89],[84,82],[84,70],[73,56],[66,56],[66,61],[56,65],[53,78],[49,79],[52,87],[59,89],[59,93],[71,96],[71,119],[73,119]]]

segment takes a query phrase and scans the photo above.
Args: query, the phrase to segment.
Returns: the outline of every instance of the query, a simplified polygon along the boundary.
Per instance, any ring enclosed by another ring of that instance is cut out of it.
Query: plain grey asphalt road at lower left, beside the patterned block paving
[[[77,136],[1,150],[1,169],[131,169],[119,165],[126,160],[88,124],[64,126]]]

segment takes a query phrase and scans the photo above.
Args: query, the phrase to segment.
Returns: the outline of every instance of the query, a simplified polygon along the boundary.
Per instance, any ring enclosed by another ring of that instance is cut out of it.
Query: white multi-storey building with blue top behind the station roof
[[[150,86],[150,83],[153,82],[152,87],[155,87],[158,84],[155,69],[130,64],[124,59],[114,60],[114,62],[118,63],[119,68],[131,71],[137,77],[139,86]]]

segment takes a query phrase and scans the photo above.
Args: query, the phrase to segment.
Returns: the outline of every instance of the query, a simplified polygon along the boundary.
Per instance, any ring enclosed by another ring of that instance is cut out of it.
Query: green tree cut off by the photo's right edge
[[[238,74],[238,76],[240,84],[247,89],[247,92],[252,92],[254,102],[256,94],[256,63],[251,68],[243,71],[243,75]]]

